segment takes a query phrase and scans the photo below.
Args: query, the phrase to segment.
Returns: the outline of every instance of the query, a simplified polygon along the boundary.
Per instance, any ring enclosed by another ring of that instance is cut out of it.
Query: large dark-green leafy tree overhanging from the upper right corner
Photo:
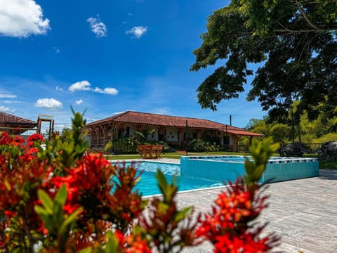
[[[336,115],[336,2],[232,0],[211,13],[190,70],[225,64],[197,88],[201,108],[216,110],[221,100],[237,98],[255,74],[246,99],[257,98],[270,119],[287,117],[295,100],[310,118],[319,103]],[[255,73],[253,63],[260,64]]]

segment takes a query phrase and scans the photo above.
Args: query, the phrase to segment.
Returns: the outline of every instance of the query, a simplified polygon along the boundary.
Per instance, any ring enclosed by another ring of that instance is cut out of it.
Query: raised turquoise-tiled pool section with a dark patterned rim
[[[182,156],[180,174],[201,179],[234,181],[245,173],[242,155]],[[279,182],[318,176],[318,159],[303,157],[270,157],[260,182]]]

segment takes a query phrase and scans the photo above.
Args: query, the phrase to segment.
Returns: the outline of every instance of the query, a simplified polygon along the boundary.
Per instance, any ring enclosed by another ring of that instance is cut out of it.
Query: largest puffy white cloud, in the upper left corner
[[[29,37],[46,34],[48,18],[34,0],[0,0],[0,34],[6,37]]]

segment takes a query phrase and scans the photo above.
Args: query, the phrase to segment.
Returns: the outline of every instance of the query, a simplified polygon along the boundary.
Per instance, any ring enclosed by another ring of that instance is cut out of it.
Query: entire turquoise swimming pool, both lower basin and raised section
[[[155,178],[157,169],[161,169],[169,183],[176,174],[179,191],[224,186],[228,181],[234,182],[237,176],[244,176],[245,160],[245,156],[222,155],[182,156],[180,157],[180,164],[138,162],[136,167],[143,171],[143,174],[135,188],[143,196],[159,194],[160,190]],[[126,162],[127,165],[131,165],[131,162]],[[313,176],[319,176],[317,158],[270,157],[260,182],[271,183]]]

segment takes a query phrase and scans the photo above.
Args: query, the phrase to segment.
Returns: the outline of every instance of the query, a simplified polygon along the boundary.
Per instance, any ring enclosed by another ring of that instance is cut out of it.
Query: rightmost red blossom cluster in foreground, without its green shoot
[[[257,186],[257,189],[259,186]],[[204,216],[197,235],[204,236],[215,246],[214,252],[265,252],[271,249],[275,236],[259,238],[264,226],[251,231],[249,222],[266,207],[267,197],[249,190],[243,179],[230,183],[227,191],[218,195],[213,211]]]

